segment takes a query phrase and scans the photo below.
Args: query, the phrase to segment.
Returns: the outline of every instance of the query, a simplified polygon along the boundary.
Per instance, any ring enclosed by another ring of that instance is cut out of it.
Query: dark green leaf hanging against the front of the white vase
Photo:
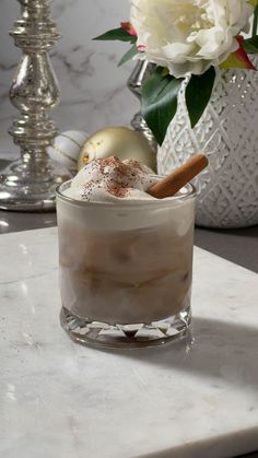
[[[186,89],[186,105],[194,128],[203,114],[213,90],[215,80],[214,67],[201,75],[192,74]]]

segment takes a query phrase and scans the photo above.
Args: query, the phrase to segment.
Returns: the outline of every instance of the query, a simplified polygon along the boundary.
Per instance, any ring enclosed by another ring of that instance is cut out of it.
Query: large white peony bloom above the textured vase
[[[130,13],[139,58],[180,78],[201,74],[234,52],[254,7],[248,0],[131,0]]]

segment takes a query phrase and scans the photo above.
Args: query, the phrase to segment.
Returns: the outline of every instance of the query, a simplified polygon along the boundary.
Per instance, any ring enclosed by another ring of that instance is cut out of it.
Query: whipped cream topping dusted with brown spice
[[[85,165],[63,193],[75,200],[92,202],[153,200],[145,191],[156,181],[153,172],[140,162],[121,162],[110,156]]]

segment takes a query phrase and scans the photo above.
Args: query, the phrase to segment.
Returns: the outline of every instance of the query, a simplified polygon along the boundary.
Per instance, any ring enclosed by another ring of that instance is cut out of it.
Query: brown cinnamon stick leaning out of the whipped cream
[[[175,196],[176,192],[178,192],[207,166],[207,156],[202,153],[198,153],[148,189],[148,193],[156,199]]]

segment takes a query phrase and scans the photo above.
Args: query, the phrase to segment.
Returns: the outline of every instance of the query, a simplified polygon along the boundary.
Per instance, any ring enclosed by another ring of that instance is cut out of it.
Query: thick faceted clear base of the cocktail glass
[[[190,307],[177,316],[149,325],[108,325],[79,318],[62,307],[60,322],[72,340],[83,345],[109,349],[155,347],[178,340],[190,329]]]

